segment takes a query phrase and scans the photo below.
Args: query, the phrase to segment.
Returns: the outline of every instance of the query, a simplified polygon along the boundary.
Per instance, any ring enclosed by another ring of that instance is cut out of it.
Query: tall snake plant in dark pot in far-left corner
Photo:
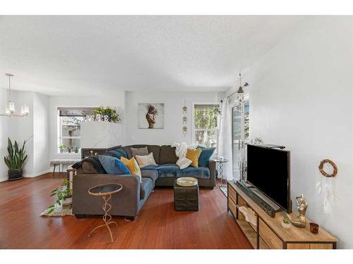
[[[4,157],[4,161],[8,167],[8,180],[19,180],[23,175],[23,164],[27,160],[28,155],[25,154],[25,142],[22,148],[18,147],[18,143],[12,144],[11,139],[7,139],[8,156]]]

